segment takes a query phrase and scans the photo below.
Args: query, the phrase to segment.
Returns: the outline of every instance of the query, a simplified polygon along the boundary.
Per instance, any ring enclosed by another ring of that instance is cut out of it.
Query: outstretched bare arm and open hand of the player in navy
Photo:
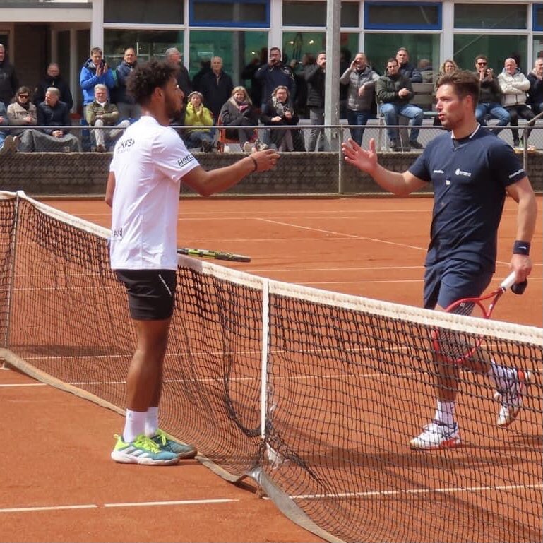
[[[349,139],[347,143],[342,143],[342,151],[346,162],[371,175],[379,186],[397,196],[407,196],[426,184],[409,171],[400,173],[383,168],[378,162],[374,138],[369,141],[368,150]]]

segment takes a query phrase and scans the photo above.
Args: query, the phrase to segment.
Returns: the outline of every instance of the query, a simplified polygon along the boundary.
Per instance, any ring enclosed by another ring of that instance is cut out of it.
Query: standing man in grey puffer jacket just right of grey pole
[[[371,104],[374,102],[375,82],[379,76],[368,66],[366,55],[357,53],[351,65],[343,72],[340,83],[347,87],[347,123],[351,128],[351,138],[362,145],[365,126],[371,118]]]

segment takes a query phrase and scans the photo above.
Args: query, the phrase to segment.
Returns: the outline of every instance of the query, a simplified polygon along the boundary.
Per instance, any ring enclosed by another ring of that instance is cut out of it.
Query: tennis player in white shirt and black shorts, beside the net
[[[170,119],[183,107],[175,68],[150,61],[134,71],[127,89],[142,117],[117,141],[107,179],[112,206],[112,270],[124,283],[137,347],[126,378],[126,421],[112,452],[116,462],[171,465],[196,450],[169,439],[158,424],[162,366],[174,309],[177,211],[181,181],[202,196],[225,191],[253,172],[275,167],[279,155],[263,150],[206,172]]]

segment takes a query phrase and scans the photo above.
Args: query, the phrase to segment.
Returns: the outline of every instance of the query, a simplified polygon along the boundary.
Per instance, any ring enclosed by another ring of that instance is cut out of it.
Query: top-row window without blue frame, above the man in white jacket
[[[527,4],[455,4],[455,28],[527,28]]]

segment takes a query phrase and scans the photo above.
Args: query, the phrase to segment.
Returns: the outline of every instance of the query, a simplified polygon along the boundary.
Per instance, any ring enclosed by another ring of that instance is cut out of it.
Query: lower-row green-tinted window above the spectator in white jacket
[[[454,59],[460,68],[475,70],[475,56],[484,54],[489,59],[489,68],[496,76],[503,70],[504,61],[510,56],[520,57],[518,66],[527,73],[527,37],[519,35],[457,34],[454,37]]]

